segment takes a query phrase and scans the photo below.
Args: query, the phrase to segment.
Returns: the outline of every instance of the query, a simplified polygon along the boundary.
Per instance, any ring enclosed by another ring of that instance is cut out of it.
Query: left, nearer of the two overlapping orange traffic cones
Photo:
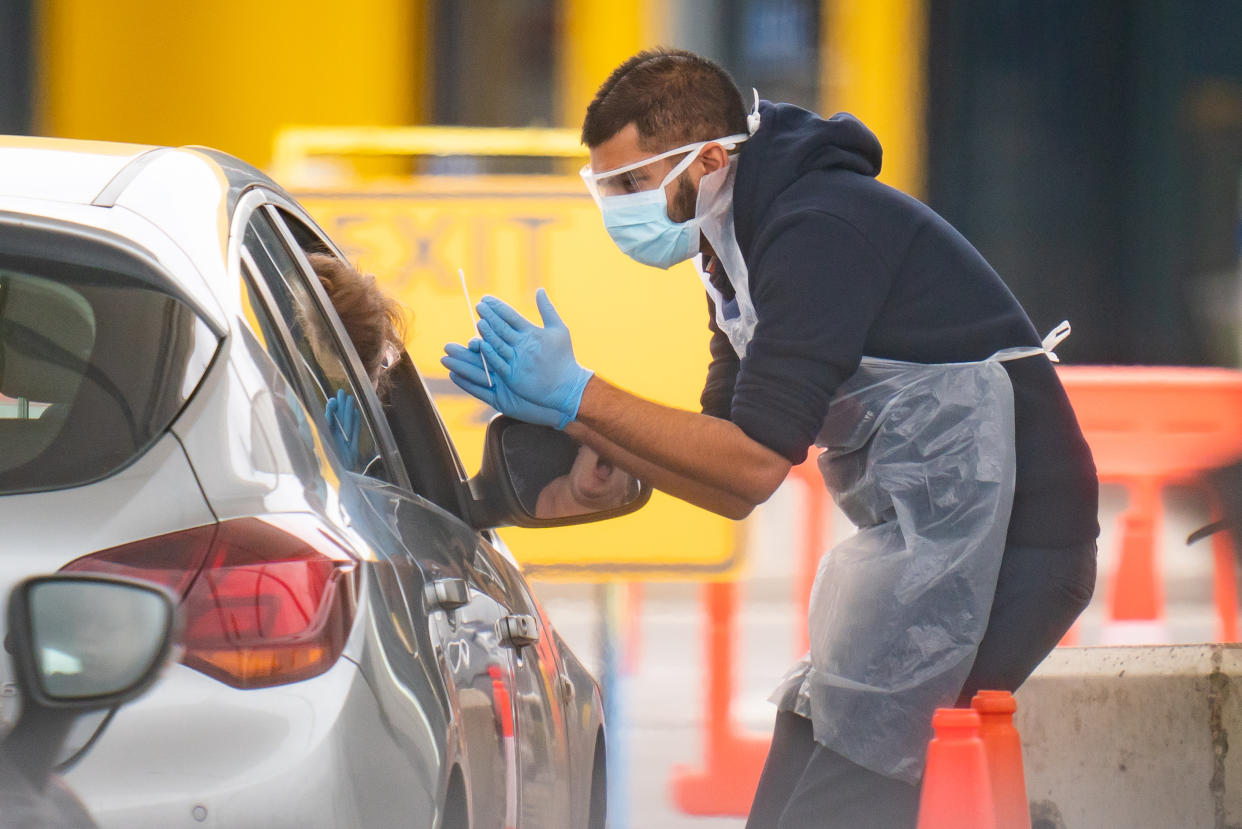
[[[918,829],[997,829],[979,715],[936,708],[932,727]]]

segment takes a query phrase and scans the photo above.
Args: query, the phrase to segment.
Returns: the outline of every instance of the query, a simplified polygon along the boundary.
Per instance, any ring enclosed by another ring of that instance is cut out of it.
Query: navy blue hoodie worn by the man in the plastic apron
[[[859,121],[768,102],[760,113],[733,196],[759,322],[739,360],[709,313],[704,413],[797,464],[863,354],[956,363],[1040,344],[979,251],[930,208],[876,180],[879,142]],[[715,283],[732,298],[723,275]],[[1052,363],[1032,357],[1005,368],[1017,444],[1010,542],[1095,538],[1095,466]]]

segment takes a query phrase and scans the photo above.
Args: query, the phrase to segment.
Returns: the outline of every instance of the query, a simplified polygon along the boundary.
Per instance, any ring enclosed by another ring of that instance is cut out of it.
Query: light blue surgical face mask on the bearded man
[[[696,158],[698,150],[688,153],[652,190],[600,196],[604,227],[622,254],[643,265],[663,268],[696,254],[699,246],[698,219],[669,219],[664,191]]]

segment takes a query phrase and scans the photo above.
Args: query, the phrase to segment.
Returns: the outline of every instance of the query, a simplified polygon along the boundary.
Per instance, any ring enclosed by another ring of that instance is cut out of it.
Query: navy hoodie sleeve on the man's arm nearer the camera
[[[854,373],[892,270],[854,225],[797,211],[765,229],[750,268],[759,321],[730,420],[792,464],[806,460],[837,387]]]

